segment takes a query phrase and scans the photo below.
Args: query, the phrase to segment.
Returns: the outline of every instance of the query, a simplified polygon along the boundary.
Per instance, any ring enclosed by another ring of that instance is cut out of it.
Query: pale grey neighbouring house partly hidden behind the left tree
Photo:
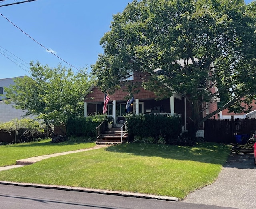
[[[4,87],[13,85],[15,78],[23,77],[24,76],[0,79],[0,94],[6,94],[6,92],[4,92]],[[12,107],[13,104],[6,104],[4,101],[5,99],[5,96],[0,96],[0,122],[8,122],[15,118],[22,119],[23,115],[26,114],[26,111]],[[29,116],[29,118],[34,119],[33,116]]]

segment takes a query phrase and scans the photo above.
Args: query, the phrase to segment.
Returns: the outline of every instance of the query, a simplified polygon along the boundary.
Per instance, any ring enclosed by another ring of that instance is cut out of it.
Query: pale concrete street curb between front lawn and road
[[[96,193],[96,194],[116,195],[116,196],[123,196],[123,197],[137,197],[137,198],[144,198],[144,199],[159,199],[159,200],[166,200],[166,201],[179,200],[177,197],[156,196],[156,195],[148,195],[148,194],[142,194],[142,193],[123,192],[123,191],[109,191],[109,190],[103,190],[103,189],[88,189],[88,188],[82,188],[82,187],[18,183],[18,182],[10,182],[10,181],[0,181],[0,184],[22,186],[22,187],[43,188],[43,189],[58,189],[58,190],[65,190],[65,191],[80,191],[80,192],[88,192],[88,193]]]

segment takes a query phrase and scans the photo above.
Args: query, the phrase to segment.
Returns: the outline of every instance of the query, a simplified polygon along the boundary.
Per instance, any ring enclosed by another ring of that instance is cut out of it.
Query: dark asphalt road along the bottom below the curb
[[[231,209],[213,205],[0,185],[1,209]]]

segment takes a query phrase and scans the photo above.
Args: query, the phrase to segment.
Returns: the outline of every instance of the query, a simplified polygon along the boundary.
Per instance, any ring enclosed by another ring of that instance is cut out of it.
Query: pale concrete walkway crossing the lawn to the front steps
[[[112,146],[112,145],[96,145],[95,147],[87,148],[87,149],[78,149],[78,150],[74,150],[74,151],[67,151],[67,152],[55,153],[55,154],[50,154],[50,155],[42,155],[42,156],[37,156],[37,157],[30,157],[30,158],[26,158],[26,159],[21,159],[21,160],[16,161],[16,165],[0,167],[0,171],[9,170],[9,169],[13,169],[13,168],[18,168],[18,167],[22,167],[24,165],[30,165],[30,164],[36,163],[38,161],[41,161],[43,159],[47,159],[47,158],[50,158],[50,157],[68,155],[68,154],[71,154],[71,153],[84,152],[84,151],[88,151],[88,150],[100,149],[102,147],[109,147],[109,146]]]

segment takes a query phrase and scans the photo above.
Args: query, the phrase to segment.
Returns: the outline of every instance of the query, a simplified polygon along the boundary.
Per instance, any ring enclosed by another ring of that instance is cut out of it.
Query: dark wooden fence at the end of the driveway
[[[204,139],[209,142],[236,143],[235,135],[249,135],[256,130],[256,119],[208,119],[204,122]]]

